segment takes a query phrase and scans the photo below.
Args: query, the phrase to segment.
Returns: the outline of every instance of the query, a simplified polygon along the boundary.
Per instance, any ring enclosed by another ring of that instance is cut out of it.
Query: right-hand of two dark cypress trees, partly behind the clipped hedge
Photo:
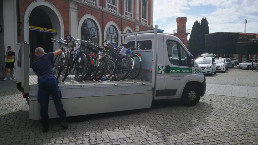
[[[201,19],[201,42],[202,42],[202,46],[201,46],[201,51],[202,53],[205,52],[205,35],[209,34],[209,23],[206,19],[206,17],[202,17]]]

